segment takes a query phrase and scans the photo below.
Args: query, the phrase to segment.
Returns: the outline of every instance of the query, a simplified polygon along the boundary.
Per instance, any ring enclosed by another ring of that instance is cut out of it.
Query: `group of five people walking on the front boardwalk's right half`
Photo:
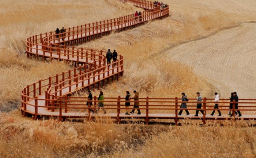
[[[219,109],[219,107],[218,107],[218,106],[219,106],[219,104],[218,104],[218,102],[219,102],[219,95],[218,95],[217,92],[215,92],[214,94],[215,94],[215,96],[214,96],[214,102],[216,102],[215,105],[214,105],[214,109]],[[183,102],[183,103],[181,103],[180,108],[187,108],[187,103],[186,103],[186,102],[188,101],[188,98],[187,98],[187,96],[185,95],[184,92],[181,93],[181,95],[182,95],[182,102]],[[197,95],[197,102],[198,102],[196,108],[197,108],[197,109],[200,109],[200,108],[202,108],[202,103],[201,103],[201,102],[202,102],[202,96],[200,95],[199,92],[197,92],[196,95]],[[237,92],[232,92],[232,93],[231,93],[230,102],[233,102],[233,101],[238,102]],[[229,109],[233,109],[233,104],[232,104],[232,103],[230,103]],[[241,112],[238,110],[238,103],[235,103],[235,109],[237,109],[237,110],[235,111],[235,114],[236,114],[236,115],[238,114],[239,117],[242,116],[242,115],[241,115]],[[182,114],[182,111],[183,111],[183,110],[180,110],[180,112],[178,113],[178,115],[181,115],[181,114]],[[188,111],[188,110],[185,110],[185,111],[186,111],[187,115],[189,115],[189,111]],[[204,114],[204,111],[203,111],[203,110],[196,110],[195,116],[198,116],[199,111],[200,111],[202,114]],[[211,115],[213,116],[214,113],[215,113],[215,110],[212,111]],[[218,110],[218,113],[219,113],[218,116],[221,116],[221,111]],[[229,110],[229,115],[232,116],[231,110]]]

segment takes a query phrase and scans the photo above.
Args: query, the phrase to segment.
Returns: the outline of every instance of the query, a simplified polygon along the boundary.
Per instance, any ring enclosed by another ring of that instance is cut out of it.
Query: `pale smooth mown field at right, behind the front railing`
[[[237,91],[256,98],[256,24],[243,23],[206,39],[166,51],[167,58],[194,67],[223,97]]]

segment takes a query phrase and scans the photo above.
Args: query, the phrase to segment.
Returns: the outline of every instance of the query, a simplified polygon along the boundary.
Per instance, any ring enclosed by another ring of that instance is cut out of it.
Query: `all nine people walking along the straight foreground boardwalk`
[[[89,90],[88,92],[89,92],[88,100],[93,100],[93,95],[91,94],[91,91]],[[140,109],[139,109],[139,102],[138,102],[138,101],[139,101],[139,93],[138,93],[136,90],[134,90],[133,93],[134,93],[134,96],[131,97],[130,92],[129,92],[129,91],[126,91],[125,107],[126,107],[127,109],[126,109],[125,115],[133,114],[135,110],[138,111],[138,113],[137,113],[138,115],[141,114]],[[185,111],[186,111],[186,113],[187,113],[187,115],[189,115],[189,111],[186,109],[186,108],[187,108],[187,103],[186,103],[186,102],[188,101],[188,97],[187,97],[187,95],[185,95],[184,92],[182,92],[181,95],[182,95],[182,103],[181,103],[180,108],[184,108]],[[197,108],[197,109],[201,109],[201,108],[202,108],[202,96],[200,95],[199,92],[197,92],[196,95],[197,95],[197,102],[198,102],[196,108]],[[131,105],[131,103],[130,103],[129,101],[130,101],[131,99],[134,99],[135,102],[134,102],[134,106],[133,106],[132,111],[129,112],[128,108],[129,108],[129,106]],[[102,108],[103,111],[104,111],[104,114],[106,114],[106,110],[105,110],[104,103],[103,103],[104,96],[103,96],[103,92],[102,92],[102,91],[100,91],[98,100],[99,100],[99,102],[98,102],[98,108],[97,108],[97,110],[96,110],[96,113],[98,113],[98,110],[99,110],[100,108]],[[237,92],[232,92],[232,93],[231,93],[230,102],[233,102],[233,101],[238,102]],[[218,104],[218,102],[219,102],[219,95],[218,95],[217,92],[215,92],[214,102],[215,102],[214,109],[219,109],[219,107],[218,107],[218,105],[219,105],[219,104]],[[87,102],[87,106],[88,106],[88,105],[89,105],[89,102]],[[92,105],[92,102],[90,102],[90,105]],[[232,103],[230,103],[229,109],[233,109],[233,104],[232,104]],[[241,112],[238,110],[238,103],[235,103],[235,109],[236,109],[235,114],[236,114],[236,115],[238,114],[239,117],[242,116],[242,115],[241,115]],[[90,109],[90,111],[94,113],[94,110],[93,110],[93,109]],[[183,110],[180,110],[180,112],[178,113],[178,115],[181,115],[181,114],[182,114],[182,111],[183,111]],[[195,116],[198,116],[199,111],[200,111],[202,114],[204,114],[204,111],[203,111],[203,110],[196,110]],[[215,110],[212,111],[212,113],[211,113],[212,116],[214,115],[214,112],[215,112]],[[218,113],[219,113],[218,116],[221,116],[221,111],[218,110]],[[231,110],[229,110],[229,115],[232,116]]]

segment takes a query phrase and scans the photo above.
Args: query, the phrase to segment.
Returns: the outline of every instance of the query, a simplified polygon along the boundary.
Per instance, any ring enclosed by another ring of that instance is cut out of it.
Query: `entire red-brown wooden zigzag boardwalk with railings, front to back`
[[[89,103],[89,107],[85,106],[86,100],[84,97],[68,96],[75,91],[84,88],[101,87],[109,83],[109,80],[123,75],[124,58],[119,56],[116,62],[106,64],[106,58],[103,54],[105,51],[97,51],[92,49],[77,48],[74,45],[90,42],[93,39],[108,35],[112,31],[123,31],[129,28],[144,24],[149,20],[161,19],[169,16],[169,6],[160,9],[160,6],[154,6],[151,1],[146,0],[120,0],[129,2],[133,5],[145,9],[142,16],[135,17],[133,14],[118,17],[115,19],[98,21],[80,25],[77,27],[67,28],[66,32],[60,35],[55,35],[53,32],[41,33],[40,35],[31,36],[27,39],[27,57],[37,56],[42,59],[50,58],[64,60],[73,63],[76,68],[51,76],[44,80],[39,80],[36,83],[25,87],[21,94],[21,111],[24,115],[38,116],[56,116],[60,120],[63,118],[87,118],[91,119],[96,116],[115,118],[117,123],[123,118],[139,118],[145,119],[148,123],[149,119],[162,118],[174,119],[176,124],[178,119],[202,119],[205,123],[206,119],[215,119],[213,116],[206,115],[207,110],[212,109],[210,99],[204,99],[205,111],[202,116],[193,117],[177,116],[178,101],[177,98],[140,98],[141,115],[124,115],[121,110],[124,110],[123,98],[106,98],[105,102],[108,114],[91,114],[91,105],[97,104],[96,98]],[[192,99],[193,100],[193,99]],[[209,102],[210,100],[210,102]],[[246,100],[246,99],[245,99]],[[256,99],[247,99],[243,104],[255,104]],[[208,102],[207,102],[208,101]],[[254,101],[254,102],[253,102]],[[195,102],[192,102],[195,103]],[[229,104],[229,102],[223,102]],[[191,105],[190,107],[194,107]],[[211,109],[209,109],[209,108]],[[220,106],[226,107],[226,106]],[[241,106],[240,106],[241,107]],[[246,111],[255,112],[255,106],[243,106]],[[195,108],[192,108],[195,110]],[[64,110],[64,111],[63,111]],[[191,109],[190,109],[191,110]],[[227,109],[222,109],[227,110]],[[88,111],[88,112],[87,112]],[[153,111],[153,112],[152,112]],[[152,112],[152,113],[151,113]],[[234,114],[233,114],[234,115]],[[233,119],[234,117],[222,116],[217,119]],[[243,119],[255,119],[255,114],[243,115]]]

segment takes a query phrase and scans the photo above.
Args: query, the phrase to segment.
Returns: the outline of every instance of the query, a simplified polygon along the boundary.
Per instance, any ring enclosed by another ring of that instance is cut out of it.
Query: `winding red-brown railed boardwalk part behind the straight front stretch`
[[[162,18],[169,15],[169,6],[160,9],[154,6],[151,1],[146,0],[120,0],[145,9],[141,16],[134,14],[122,16],[110,20],[97,21],[72,28],[66,28],[64,33],[55,34],[54,31],[41,33],[27,38],[27,57],[37,56],[43,59],[57,59],[73,62],[77,67],[61,74],[50,76],[27,85],[21,92],[23,112],[33,114],[36,108],[31,111],[27,105],[35,105],[37,98],[44,98],[45,106],[51,105],[50,99],[57,96],[71,94],[82,88],[95,88],[105,80],[122,76],[124,72],[124,58],[119,55],[116,62],[106,64],[103,54],[106,51],[93,50],[89,48],[78,48],[74,45],[90,42],[112,31],[122,31],[127,28],[136,27],[149,20]]]

